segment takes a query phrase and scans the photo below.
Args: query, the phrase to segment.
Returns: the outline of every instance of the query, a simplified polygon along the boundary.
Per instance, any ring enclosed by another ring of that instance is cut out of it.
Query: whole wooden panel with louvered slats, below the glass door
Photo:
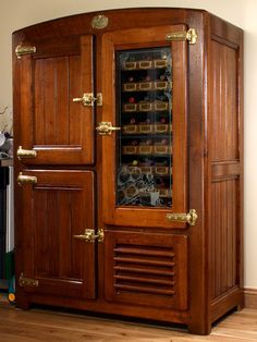
[[[187,236],[105,232],[106,300],[187,308]]]

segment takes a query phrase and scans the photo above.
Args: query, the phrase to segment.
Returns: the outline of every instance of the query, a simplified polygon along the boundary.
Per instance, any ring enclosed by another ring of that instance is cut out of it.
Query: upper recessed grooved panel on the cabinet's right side
[[[236,59],[233,48],[211,41],[212,60],[212,160],[238,158]]]

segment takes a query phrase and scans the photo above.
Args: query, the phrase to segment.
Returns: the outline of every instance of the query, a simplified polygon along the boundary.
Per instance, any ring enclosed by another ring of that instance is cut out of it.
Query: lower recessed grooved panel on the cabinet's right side
[[[236,285],[236,185],[237,180],[212,183],[210,236],[212,289],[216,298]]]

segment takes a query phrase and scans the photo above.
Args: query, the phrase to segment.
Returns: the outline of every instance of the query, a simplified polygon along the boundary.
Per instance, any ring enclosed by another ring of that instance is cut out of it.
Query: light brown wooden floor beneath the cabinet
[[[257,341],[257,310],[233,313],[199,337],[169,327],[148,326],[122,320],[96,318],[46,309],[23,312],[0,303],[1,342],[186,342],[186,341]]]

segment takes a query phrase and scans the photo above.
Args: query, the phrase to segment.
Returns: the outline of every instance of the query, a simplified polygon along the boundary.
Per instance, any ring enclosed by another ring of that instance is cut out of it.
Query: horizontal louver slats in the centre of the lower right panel
[[[117,244],[113,255],[117,294],[174,295],[175,257],[172,247]]]

